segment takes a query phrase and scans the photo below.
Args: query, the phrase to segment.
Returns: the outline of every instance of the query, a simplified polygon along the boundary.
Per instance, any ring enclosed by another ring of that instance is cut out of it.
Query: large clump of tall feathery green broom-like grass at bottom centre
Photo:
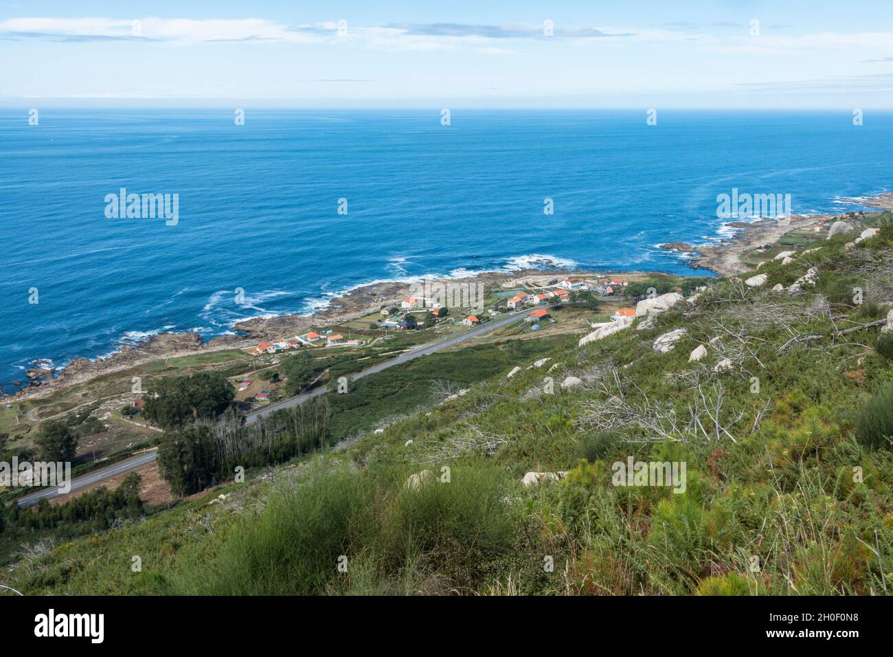
[[[179,593],[452,593],[480,584],[512,549],[505,479],[493,468],[455,467],[448,483],[435,476],[413,489],[403,469],[325,467],[272,493]]]

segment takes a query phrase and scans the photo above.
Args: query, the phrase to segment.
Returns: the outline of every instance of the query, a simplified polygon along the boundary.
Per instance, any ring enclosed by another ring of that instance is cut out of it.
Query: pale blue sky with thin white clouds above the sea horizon
[[[893,2],[0,0],[0,104],[893,109]]]

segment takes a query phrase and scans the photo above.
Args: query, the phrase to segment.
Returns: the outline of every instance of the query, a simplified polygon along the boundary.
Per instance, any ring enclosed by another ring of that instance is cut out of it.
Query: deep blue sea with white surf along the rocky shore
[[[48,108],[29,126],[27,108],[0,110],[0,385],[12,392],[38,358],[61,366],[160,331],[210,339],[377,280],[530,264],[689,274],[655,245],[717,239],[718,194],[790,194],[795,213],[822,213],[893,178],[893,114],[451,119],[249,109],[237,126],[227,110]],[[179,194],[179,223],[106,218],[121,187]]]

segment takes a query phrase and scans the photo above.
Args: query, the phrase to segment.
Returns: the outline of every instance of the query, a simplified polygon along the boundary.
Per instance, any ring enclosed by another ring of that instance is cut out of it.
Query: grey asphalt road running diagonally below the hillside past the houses
[[[445,338],[440,341],[421,345],[421,347],[418,347],[411,351],[407,351],[404,354],[400,354],[396,358],[391,358],[390,360],[386,360],[383,363],[373,365],[361,372],[357,372],[351,377],[351,381],[362,379],[363,376],[376,374],[377,372],[388,369],[388,367],[400,365],[401,363],[408,363],[410,360],[414,360],[415,358],[421,358],[422,356],[433,354],[436,351],[448,349],[449,347],[453,347],[460,342],[471,340],[472,338],[477,338],[485,333],[495,331],[498,328],[502,328],[503,326],[512,324],[513,322],[524,316],[530,315],[530,313],[536,309],[537,308],[524,308],[523,310],[513,312],[509,316],[505,316],[481,326],[477,326],[466,333],[461,333],[459,335]],[[297,406],[298,404],[303,404],[307,400],[312,400],[314,397],[319,397],[321,394],[325,394],[326,392],[330,392],[329,388],[327,386],[322,386],[321,388],[316,388],[310,392],[304,392],[302,394],[296,395],[295,397],[289,397],[287,400],[277,401],[275,404],[271,404],[265,409],[255,410],[254,412],[246,415],[245,423],[246,425],[254,424],[259,418],[263,416],[269,415],[277,410],[290,409],[291,407]],[[98,482],[105,481],[106,479],[110,479],[113,476],[121,475],[121,473],[129,472],[129,470],[135,470],[138,467],[145,466],[146,463],[151,463],[157,458],[157,451],[147,451],[146,453],[140,454],[136,457],[119,461],[112,466],[95,470],[88,475],[80,476],[76,479],[73,479],[71,481],[71,492],[78,491],[90,484],[96,484]],[[46,498],[48,500],[60,494],[65,493],[59,493],[58,488],[46,488],[38,491],[37,493],[25,495],[24,497],[19,499],[18,504],[20,507],[29,507],[37,504],[38,501],[40,501],[41,499]]]

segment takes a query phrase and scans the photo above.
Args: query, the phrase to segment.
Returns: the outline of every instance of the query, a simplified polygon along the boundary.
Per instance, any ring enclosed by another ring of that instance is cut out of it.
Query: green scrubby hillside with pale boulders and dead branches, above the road
[[[859,244],[856,232],[805,245],[761,266],[761,286],[744,282],[754,273],[717,280],[582,347],[514,341],[371,376],[329,395],[338,438],[353,440],[57,545],[0,582],[28,594],[886,594],[893,225],[868,221],[880,232]],[[672,350],[655,350],[677,329]],[[580,383],[563,388],[568,377]],[[616,485],[630,457],[684,465],[684,492]],[[566,476],[524,486],[528,472]]]

